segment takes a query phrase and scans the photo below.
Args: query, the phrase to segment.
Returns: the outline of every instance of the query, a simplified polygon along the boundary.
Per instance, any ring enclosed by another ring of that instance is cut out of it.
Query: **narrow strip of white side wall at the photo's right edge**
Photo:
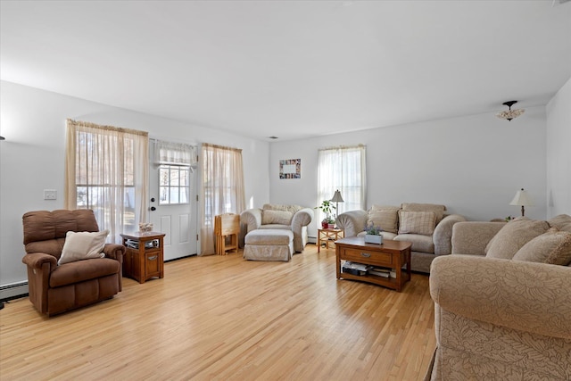
[[[571,79],[547,104],[547,214],[571,215]]]

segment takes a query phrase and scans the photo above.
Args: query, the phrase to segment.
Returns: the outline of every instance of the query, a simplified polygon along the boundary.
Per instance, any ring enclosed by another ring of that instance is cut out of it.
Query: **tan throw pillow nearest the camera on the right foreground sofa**
[[[571,233],[550,228],[524,244],[513,260],[567,266],[571,262]]]

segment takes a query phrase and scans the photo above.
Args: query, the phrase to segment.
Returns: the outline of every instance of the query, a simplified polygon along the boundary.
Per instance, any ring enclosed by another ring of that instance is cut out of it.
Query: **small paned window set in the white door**
[[[159,167],[159,204],[188,203],[190,169],[178,165]]]

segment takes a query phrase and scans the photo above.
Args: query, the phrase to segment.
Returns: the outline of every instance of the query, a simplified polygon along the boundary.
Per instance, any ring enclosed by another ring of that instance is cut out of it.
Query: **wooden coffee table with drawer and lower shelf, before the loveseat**
[[[401,291],[410,280],[410,242],[384,239],[383,244],[365,244],[361,236],[351,236],[335,242],[337,279],[352,279],[374,283],[379,286]],[[367,265],[394,269],[396,277],[376,275],[352,275],[341,272],[341,261],[352,261]],[[406,270],[402,266],[406,265]]]

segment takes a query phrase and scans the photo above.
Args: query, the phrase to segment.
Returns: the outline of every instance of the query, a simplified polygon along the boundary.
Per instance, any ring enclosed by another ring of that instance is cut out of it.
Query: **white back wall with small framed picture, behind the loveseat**
[[[316,206],[318,149],[361,143],[367,145],[368,206],[443,203],[451,213],[489,220],[518,216],[519,208],[509,202],[524,187],[536,204],[525,215],[543,219],[545,120],[545,108],[533,107],[512,121],[489,113],[272,142],[271,202]],[[279,160],[297,158],[302,159],[302,178],[280,179]]]

